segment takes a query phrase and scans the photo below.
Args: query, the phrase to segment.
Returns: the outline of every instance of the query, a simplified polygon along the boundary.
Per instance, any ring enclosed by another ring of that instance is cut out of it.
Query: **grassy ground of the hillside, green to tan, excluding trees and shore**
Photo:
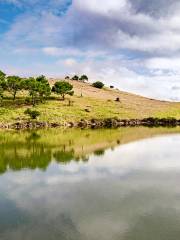
[[[53,85],[55,80],[50,80]],[[144,98],[119,90],[104,88],[96,89],[88,83],[69,81],[74,86],[74,96],[67,96],[65,101],[52,94],[51,99],[35,107],[41,112],[39,121],[77,122],[81,119],[103,118],[145,118],[175,117],[180,118],[180,103],[171,103]],[[6,94],[0,107],[0,123],[25,121],[28,117],[24,111],[29,107],[24,103],[25,93],[19,93],[13,103]],[[81,96],[82,95],[82,96]],[[120,102],[115,99],[119,97]],[[73,102],[68,106],[69,99]]]

